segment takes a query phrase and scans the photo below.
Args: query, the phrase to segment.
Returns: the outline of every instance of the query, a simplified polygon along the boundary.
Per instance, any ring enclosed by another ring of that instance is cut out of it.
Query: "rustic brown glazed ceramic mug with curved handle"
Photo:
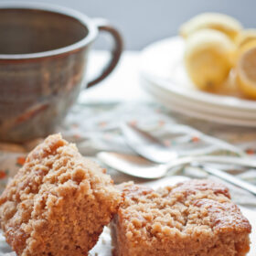
[[[113,37],[112,58],[87,82],[91,44],[99,31]],[[0,140],[23,143],[53,133],[80,89],[107,77],[123,40],[105,20],[52,5],[0,5]]]

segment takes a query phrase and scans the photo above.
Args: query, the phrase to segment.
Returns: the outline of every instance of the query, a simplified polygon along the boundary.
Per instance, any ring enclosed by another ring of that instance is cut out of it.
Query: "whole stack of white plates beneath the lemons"
[[[256,127],[256,101],[198,91],[183,65],[184,41],[172,37],[144,48],[144,89],[175,112],[216,123]]]

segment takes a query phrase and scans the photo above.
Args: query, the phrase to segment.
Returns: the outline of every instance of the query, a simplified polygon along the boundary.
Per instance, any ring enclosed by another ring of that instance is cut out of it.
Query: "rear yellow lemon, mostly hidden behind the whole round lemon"
[[[219,30],[231,40],[235,40],[242,26],[237,19],[231,16],[219,13],[203,13],[188,20],[180,27],[179,32],[182,37],[187,38],[196,31],[204,28]]]

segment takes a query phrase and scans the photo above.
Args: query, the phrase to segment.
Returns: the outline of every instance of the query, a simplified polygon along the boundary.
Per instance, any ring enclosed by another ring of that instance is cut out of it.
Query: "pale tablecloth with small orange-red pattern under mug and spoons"
[[[70,110],[65,122],[58,127],[57,132],[62,133],[69,142],[76,143],[80,153],[88,157],[94,157],[101,150],[131,153],[131,149],[125,144],[120,131],[120,124],[123,122],[134,123],[153,133],[181,155],[189,154],[190,150],[196,146],[198,150],[210,155],[244,154],[256,157],[255,129],[199,121],[169,112],[153,101],[134,101],[133,99],[133,101],[123,101],[123,103],[114,101],[77,103]],[[180,134],[174,137],[174,134],[179,132]],[[37,139],[24,145],[0,144],[1,191],[5,188],[8,179],[14,176],[18,168],[24,164],[27,152],[41,140]],[[256,184],[255,169],[241,169],[237,166],[227,165],[218,165],[217,167]],[[110,168],[108,172],[116,183],[131,179],[135,182],[144,182],[142,179],[125,176]],[[167,176],[173,174],[174,170],[170,171]],[[191,166],[176,169],[175,174],[188,177],[208,176],[203,170]],[[162,184],[161,180],[159,182]],[[238,187],[228,186],[236,203],[255,211],[255,197]],[[106,239],[109,239],[108,235]],[[7,252],[9,249],[0,235],[0,255],[4,255],[4,251]]]

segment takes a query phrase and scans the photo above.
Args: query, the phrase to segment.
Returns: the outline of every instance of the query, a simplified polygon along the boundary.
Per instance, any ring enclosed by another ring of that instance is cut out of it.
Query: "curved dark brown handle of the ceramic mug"
[[[100,32],[108,32],[113,37],[114,45],[112,48],[111,59],[102,69],[101,74],[97,78],[88,82],[87,88],[90,88],[101,80],[104,80],[112,72],[112,70],[117,65],[123,51],[123,37],[116,28],[112,27],[110,23],[105,19],[97,18],[94,19],[93,22],[95,23],[96,27],[98,27]]]

